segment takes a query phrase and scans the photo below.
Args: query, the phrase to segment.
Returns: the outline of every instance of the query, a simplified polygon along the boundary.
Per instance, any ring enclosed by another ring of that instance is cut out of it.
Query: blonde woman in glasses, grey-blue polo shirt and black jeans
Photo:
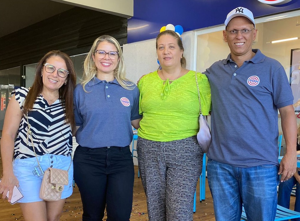
[[[125,78],[118,41],[98,37],[84,61],[74,91],[76,141],[74,178],[83,221],[128,221],[132,210],[134,165],[129,145],[139,128],[139,90]]]

